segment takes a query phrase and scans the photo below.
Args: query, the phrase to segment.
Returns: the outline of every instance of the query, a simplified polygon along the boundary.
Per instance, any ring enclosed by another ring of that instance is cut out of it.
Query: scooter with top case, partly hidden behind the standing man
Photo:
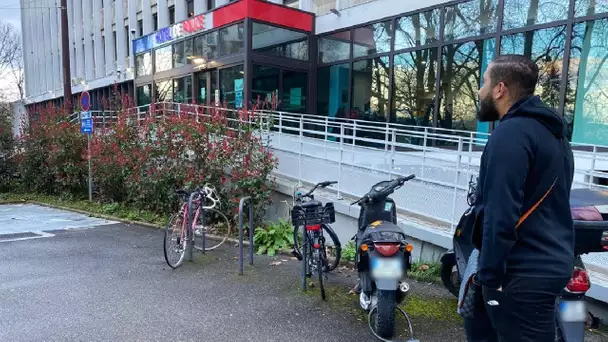
[[[469,256],[475,248],[471,239],[475,223],[475,193],[476,181],[471,179],[467,196],[469,208],[456,226],[454,248],[441,258],[441,280],[456,297]],[[591,282],[581,255],[608,251],[608,191],[574,189],[570,195],[570,207],[575,229],[574,269],[556,303],[556,342],[584,340],[585,326],[594,318],[585,305],[585,294]]]

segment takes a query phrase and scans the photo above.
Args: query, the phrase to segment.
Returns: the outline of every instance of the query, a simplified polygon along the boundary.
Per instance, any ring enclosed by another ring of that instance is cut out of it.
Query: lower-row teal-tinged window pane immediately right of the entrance
[[[317,71],[317,114],[350,118],[348,110],[349,64],[332,65]]]

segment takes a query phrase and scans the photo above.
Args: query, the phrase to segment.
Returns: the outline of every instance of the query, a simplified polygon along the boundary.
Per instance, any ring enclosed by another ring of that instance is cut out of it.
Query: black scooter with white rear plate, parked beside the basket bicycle
[[[403,302],[409,291],[405,277],[412,268],[413,249],[403,230],[397,226],[395,201],[388,196],[414,177],[409,175],[377,183],[367,194],[351,203],[361,207],[355,235],[355,265],[361,290],[359,304],[369,311],[372,332],[384,341],[395,333],[397,310],[409,323],[407,314],[397,305]],[[374,314],[376,319],[372,323]]]

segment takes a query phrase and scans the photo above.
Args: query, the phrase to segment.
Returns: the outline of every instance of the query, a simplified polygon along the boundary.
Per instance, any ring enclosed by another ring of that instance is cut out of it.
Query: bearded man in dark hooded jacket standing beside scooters
[[[500,120],[481,157],[478,279],[501,341],[553,342],[555,301],[572,275],[567,125],[534,89],[538,67],[496,58],[479,90],[480,121]]]

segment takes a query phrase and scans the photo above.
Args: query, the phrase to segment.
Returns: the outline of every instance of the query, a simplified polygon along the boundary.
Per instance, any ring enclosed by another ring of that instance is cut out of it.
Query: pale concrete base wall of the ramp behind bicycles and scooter
[[[289,205],[292,202],[292,193],[297,183],[287,179],[277,180],[277,192],[272,197],[273,204],[266,213],[266,219],[275,221],[278,218],[289,219]],[[309,187],[305,188],[309,189]],[[357,232],[357,217],[359,207],[349,207],[345,200],[336,199],[330,192],[315,191],[315,198],[323,203],[334,202],[336,208],[336,222],[332,228],[338,235],[340,243],[345,246]],[[285,203],[287,202],[287,203]],[[447,248],[451,247],[451,237],[429,231],[428,227],[410,222],[407,217],[399,217],[399,226],[409,237],[408,242],[414,246],[413,258],[415,261],[439,261]]]

